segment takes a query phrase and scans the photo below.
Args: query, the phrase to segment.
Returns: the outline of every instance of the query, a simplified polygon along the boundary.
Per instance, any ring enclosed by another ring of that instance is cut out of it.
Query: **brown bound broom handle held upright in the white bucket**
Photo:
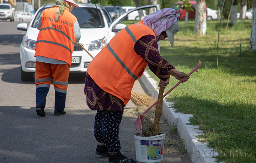
[[[163,87],[160,86],[159,94],[158,94],[158,101],[156,104],[156,110],[155,110],[155,122],[154,122],[154,128],[153,128],[153,135],[158,135],[159,131],[159,121],[162,116],[162,103],[163,103],[163,94],[164,94]]]

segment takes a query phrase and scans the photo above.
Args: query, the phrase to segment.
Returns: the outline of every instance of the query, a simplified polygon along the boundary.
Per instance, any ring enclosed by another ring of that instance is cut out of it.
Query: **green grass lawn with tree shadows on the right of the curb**
[[[129,22],[135,23],[135,22]],[[229,26],[222,20],[218,44],[218,21],[207,21],[207,34],[193,33],[194,20],[180,21],[174,49],[161,41],[160,54],[178,71],[189,73],[202,62],[198,73],[166,97],[177,112],[193,114],[190,124],[199,125],[202,141],[220,153],[220,161],[256,162],[256,54],[249,52],[251,20]],[[241,45],[241,50],[240,50]],[[148,69],[149,70],[149,69]],[[156,81],[159,79],[149,71]],[[171,89],[178,80],[170,77]]]

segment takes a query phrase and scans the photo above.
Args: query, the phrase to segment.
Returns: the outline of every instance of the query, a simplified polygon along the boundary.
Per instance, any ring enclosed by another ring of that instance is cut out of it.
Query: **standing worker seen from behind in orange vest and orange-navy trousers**
[[[42,117],[46,115],[46,96],[52,82],[55,89],[54,116],[66,113],[69,67],[74,44],[81,38],[77,18],[71,13],[73,7],[79,6],[73,0],[57,0],[55,4],[45,9],[36,22],[36,28],[40,30],[35,53],[36,112]]]

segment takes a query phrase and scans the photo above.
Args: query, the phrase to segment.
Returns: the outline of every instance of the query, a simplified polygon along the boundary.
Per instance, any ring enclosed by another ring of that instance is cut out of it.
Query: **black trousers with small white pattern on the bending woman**
[[[94,136],[98,142],[103,142],[109,152],[121,149],[119,141],[119,124],[123,111],[97,111],[94,123]]]

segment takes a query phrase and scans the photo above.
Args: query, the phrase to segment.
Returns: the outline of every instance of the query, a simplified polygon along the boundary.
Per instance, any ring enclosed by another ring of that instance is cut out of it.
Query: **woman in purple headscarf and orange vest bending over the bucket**
[[[122,29],[87,68],[84,90],[87,105],[91,110],[97,110],[94,125],[98,142],[96,154],[109,156],[110,162],[136,162],[119,151],[119,124],[133,84],[146,66],[164,88],[169,84],[170,75],[182,83],[189,79],[189,75],[177,71],[158,51],[157,42],[167,37],[173,47],[179,17],[174,9],[161,9]]]

